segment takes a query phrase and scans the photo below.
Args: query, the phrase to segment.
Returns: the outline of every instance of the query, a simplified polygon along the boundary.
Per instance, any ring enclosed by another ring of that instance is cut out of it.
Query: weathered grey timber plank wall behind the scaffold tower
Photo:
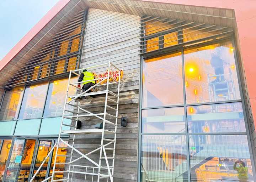
[[[89,9],[81,68],[111,61],[118,68],[123,70],[119,97],[114,182],[135,182],[137,178],[140,76],[139,27],[139,16],[93,8]],[[95,73],[105,73],[106,70],[107,66],[97,67],[97,69],[94,70],[89,69],[89,71]],[[117,85],[110,85],[110,88],[112,91],[116,91]],[[83,108],[90,112],[102,113],[104,112],[104,102],[105,99],[98,99],[91,102],[84,100],[80,103]],[[111,103],[108,105],[112,106]],[[110,114],[115,113],[113,110],[107,110],[107,112]],[[121,117],[123,116],[128,118],[127,127],[121,126]],[[114,122],[114,119],[107,119]],[[80,118],[80,120],[82,121],[81,129],[95,129],[94,125],[102,121],[94,116]],[[106,128],[114,129],[112,125],[106,125]],[[105,136],[106,138],[113,138],[113,135]],[[70,135],[70,138],[71,137],[73,137],[73,135]],[[75,147],[86,154],[98,148],[100,142],[101,135],[80,134],[76,135]],[[112,152],[113,151],[107,151],[107,154],[112,154]],[[98,163],[99,155],[100,151],[97,151],[88,157]],[[78,157],[80,157],[80,155],[77,153],[73,155],[73,159]],[[67,158],[67,161],[69,161],[69,158]],[[109,162],[110,165],[112,165],[112,160],[109,160]],[[90,165],[90,162],[83,158],[74,164]],[[105,165],[105,161],[102,160],[102,164]],[[75,169],[77,171],[85,171],[85,169],[81,167]],[[92,170],[89,171],[92,172]],[[96,173],[97,172],[96,170]],[[73,174],[73,180],[77,182],[84,181],[84,179],[85,175]],[[87,180],[91,181],[91,176],[87,175],[86,181]],[[94,176],[93,181],[97,181],[97,176]],[[102,179],[101,181],[106,181],[106,179]]]

